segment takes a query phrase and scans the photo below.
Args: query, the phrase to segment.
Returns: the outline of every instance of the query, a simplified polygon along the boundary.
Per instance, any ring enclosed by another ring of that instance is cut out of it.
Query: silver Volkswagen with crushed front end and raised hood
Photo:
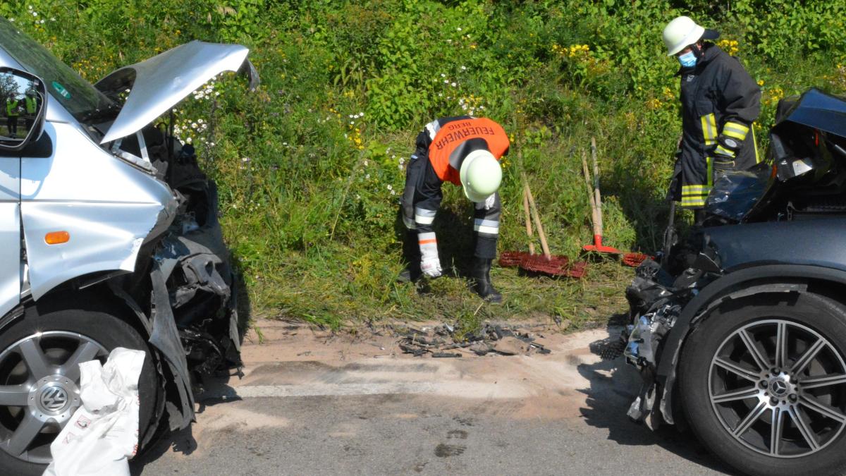
[[[80,406],[77,365],[146,351],[140,446],[194,418],[238,368],[235,275],[217,191],[162,114],[239,45],[190,42],[91,85],[0,19],[0,468],[42,473]]]

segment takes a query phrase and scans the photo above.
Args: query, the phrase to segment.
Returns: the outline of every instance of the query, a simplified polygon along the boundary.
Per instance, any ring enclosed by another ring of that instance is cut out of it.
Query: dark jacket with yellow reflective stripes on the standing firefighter
[[[702,208],[713,185],[714,156],[733,169],[758,163],[752,123],[761,112],[761,89],[737,58],[706,43],[693,69],[680,69],[682,103],[680,177],[673,198]]]

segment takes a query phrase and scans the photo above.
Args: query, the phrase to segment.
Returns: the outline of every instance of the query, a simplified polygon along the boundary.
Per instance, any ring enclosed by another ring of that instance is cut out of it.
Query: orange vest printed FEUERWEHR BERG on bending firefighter
[[[437,131],[429,146],[429,160],[437,176],[444,181],[461,185],[459,167],[461,158],[450,156],[464,141],[483,139],[487,142],[487,150],[499,160],[508,151],[508,134],[503,126],[487,118],[458,119],[448,122]]]

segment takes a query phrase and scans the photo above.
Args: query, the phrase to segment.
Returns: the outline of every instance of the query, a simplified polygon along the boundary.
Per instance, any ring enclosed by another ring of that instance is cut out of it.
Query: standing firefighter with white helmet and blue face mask
[[[663,31],[667,54],[681,64],[682,138],[670,196],[695,211],[697,224],[715,175],[758,163],[752,123],[761,89],[737,58],[706,42],[718,37],[684,16]]]

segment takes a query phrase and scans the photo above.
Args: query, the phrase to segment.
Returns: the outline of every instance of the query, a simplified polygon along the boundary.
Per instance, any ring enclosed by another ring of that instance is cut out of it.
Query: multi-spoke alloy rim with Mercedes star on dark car
[[[846,363],[814,329],[785,319],[722,341],[708,376],[711,407],[733,439],[769,457],[821,451],[846,426]]]

